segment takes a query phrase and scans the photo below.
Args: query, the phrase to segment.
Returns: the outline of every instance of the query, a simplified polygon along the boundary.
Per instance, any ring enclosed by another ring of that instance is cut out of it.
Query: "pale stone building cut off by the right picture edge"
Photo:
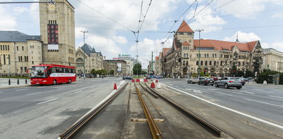
[[[262,69],[283,72],[283,52],[268,48],[263,50]]]

